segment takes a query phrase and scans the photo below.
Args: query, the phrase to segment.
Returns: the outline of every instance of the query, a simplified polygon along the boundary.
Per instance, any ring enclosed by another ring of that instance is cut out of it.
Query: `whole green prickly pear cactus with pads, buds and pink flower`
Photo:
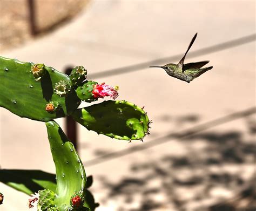
[[[99,98],[118,97],[118,86],[87,81],[86,74],[83,66],[75,67],[69,77],[44,64],[0,57],[0,107],[19,117],[46,122],[56,167],[55,192],[52,182],[37,181],[45,189],[32,196],[30,208],[35,202],[38,202],[38,210],[52,211],[93,211],[98,206],[85,189],[84,167],[74,146],[53,119],[72,115],[88,130],[116,139],[142,140],[149,134],[151,121],[146,112],[125,100],[108,100],[77,109],[81,100],[91,103]],[[22,181],[27,185],[30,182],[26,176]],[[32,189],[19,183],[11,182],[9,185],[26,193]]]

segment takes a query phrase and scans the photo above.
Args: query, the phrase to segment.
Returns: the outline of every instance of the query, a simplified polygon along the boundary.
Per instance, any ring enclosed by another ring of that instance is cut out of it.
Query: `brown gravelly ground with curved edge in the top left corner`
[[[66,23],[85,8],[87,0],[33,0],[37,36]],[[28,0],[0,0],[0,51],[32,39]]]

